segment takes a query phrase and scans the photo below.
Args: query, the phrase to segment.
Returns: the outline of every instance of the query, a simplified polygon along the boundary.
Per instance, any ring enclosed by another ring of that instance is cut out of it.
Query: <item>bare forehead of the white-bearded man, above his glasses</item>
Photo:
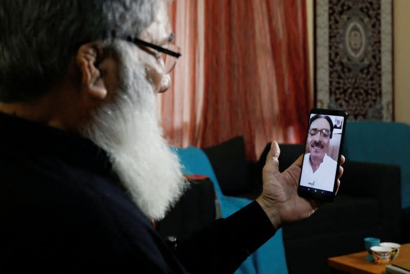
[[[147,42],[163,45],[169,42],[172,29],[168,17],[166,1],[161,1],[152,24],[141,33],[140,39]]]

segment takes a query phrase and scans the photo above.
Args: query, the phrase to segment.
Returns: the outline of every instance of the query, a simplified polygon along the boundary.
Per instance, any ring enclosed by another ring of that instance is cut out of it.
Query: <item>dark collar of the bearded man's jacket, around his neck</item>
[[[72,166],[115,175],[107,152],[77,134],[2,112],[0,129],[0,151],[47,155]]]

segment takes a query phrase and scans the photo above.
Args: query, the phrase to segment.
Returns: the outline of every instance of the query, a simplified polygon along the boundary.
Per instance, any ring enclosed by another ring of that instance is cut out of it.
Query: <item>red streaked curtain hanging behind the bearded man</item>
[[[265,145],[301,143],[312,107],[304,0],[175,0],[183,56],[158,103],[176,146],[242,135],[248,159]]]

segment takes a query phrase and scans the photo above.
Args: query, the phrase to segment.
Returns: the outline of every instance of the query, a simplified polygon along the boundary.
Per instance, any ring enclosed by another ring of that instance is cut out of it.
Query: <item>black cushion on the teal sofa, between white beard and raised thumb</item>
[[[245,143],[241,136],[202,150],[211,162],[223,194],[234,196],[251,190]]]

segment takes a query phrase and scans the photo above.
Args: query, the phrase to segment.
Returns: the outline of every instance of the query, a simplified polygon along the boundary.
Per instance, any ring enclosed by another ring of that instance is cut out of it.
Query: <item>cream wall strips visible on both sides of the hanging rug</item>
[[[384,1],[384,0],[381,0]],[[313,0],[306,0],[313,92]],[[410,124],[410,1],[393,0],[395,121]],[[313,96],[313,94],[312,94]]]

